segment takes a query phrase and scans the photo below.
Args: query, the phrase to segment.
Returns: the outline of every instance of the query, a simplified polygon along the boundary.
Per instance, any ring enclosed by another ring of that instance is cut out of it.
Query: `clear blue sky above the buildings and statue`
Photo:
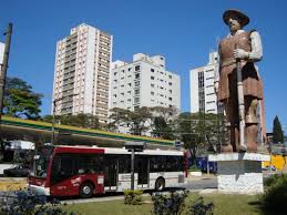
[[[217,40],[228,33],[222,20],[227,9],[250,18],[264,58],[258,63],[264,82],[267,132],[278,115],[287,133],[287,1],[260,0],[1,0],[0,41],[13,23],[9,76],[18,76],[44,95],[42,113],[51,113],[57,41],[71,28],[86,23],[114,37],[113,60],[132,62],[134,53],[161,54],[167,71],[181,75],[182,112],[189,111],[189,70],[208,62]]]

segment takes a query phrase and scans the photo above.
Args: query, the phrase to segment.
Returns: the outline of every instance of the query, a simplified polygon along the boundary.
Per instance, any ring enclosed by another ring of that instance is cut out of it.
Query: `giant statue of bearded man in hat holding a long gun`
[[[263,85],[255,62],[263,58],[260,35],[244,31],[249,18],[238,10],[223,14],[230,33],[219,42],[215,92],[226,113],[228,140],[223,152],[257,152],[257,105]]]

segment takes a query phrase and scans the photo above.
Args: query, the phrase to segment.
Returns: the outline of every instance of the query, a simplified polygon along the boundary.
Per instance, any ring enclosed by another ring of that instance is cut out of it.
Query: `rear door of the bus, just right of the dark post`
[[[139,174],[137,176],[137,187],[146,188],[148,187],[150,180],[150,160],[146,156],[136,156],[135,170]]]

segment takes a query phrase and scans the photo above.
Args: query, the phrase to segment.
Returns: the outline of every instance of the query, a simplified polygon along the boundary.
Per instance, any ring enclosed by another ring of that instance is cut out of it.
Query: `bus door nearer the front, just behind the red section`
[[[105,155],[104,160],[104,190],[116,191],[119,175],[119,160],[114,155]]]

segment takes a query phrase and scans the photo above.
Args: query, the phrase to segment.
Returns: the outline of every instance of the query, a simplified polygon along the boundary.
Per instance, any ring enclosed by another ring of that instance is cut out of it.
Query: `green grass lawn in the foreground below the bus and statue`
[[[258,196],[250,195],[224,195],[224,194],[206,194],[203,195],[205,202],[213,202],[215,205],[214,214],[219,215],[253,215],[260,214],[258,208]],[[191,201],[198,197],[198,194],[189,194],[187,198],[187,205],[191,205]],[[144,198],[146,202],[151,202],[150,197]],[[124,201],[111,201],[101,203],[84,203],[66,205],[64,208],[68,212],[74,212],[75,214],[93,214],[93,215],[144,215],[151,214],[153,204],[147,203],[143,205],[125,205]]]

